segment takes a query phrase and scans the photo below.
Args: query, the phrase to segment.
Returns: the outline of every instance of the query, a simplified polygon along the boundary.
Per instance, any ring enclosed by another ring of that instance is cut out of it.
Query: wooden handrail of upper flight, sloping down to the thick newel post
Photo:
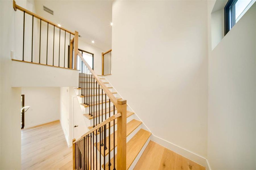
[[[109,88],[101,81],[101,79],[97,76],[97,74],[91,69],[90,65],[85,61],[85,59],[82,57],[82,54],[80,53],[79,50],[77,50],[78,56],[81,58],[81,60],[84,62],[86,67],[89,69],[95,80],[99,83],[101,88],[104,90],[104,92],[107,94],[113,105],[117,107],[117,99],[116,97],[110,92]]]

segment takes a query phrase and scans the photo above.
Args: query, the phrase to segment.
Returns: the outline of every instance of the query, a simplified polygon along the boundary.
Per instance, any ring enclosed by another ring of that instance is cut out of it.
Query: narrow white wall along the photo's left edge
[[[26,1],[21,1],[26,6]],[[0,169],[21,168],[20,95],[21,88],[11,87],[10,52],[15,48],[15,23],[21,21],[14,15],[13,1],[0,1],[1,6],[1,154]]]

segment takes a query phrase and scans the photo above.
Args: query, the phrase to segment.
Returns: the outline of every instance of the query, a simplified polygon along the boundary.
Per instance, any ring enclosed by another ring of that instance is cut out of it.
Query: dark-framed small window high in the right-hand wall
[[[255,0],[228,0],[224,7],[224,35],[240,20]]]

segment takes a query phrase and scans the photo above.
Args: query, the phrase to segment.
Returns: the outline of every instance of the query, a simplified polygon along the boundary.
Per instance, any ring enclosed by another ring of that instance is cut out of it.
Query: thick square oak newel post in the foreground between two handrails
[[[117,118],[117,169],[126,169],[126,100],[117,101],[117,112],[122,116]]]

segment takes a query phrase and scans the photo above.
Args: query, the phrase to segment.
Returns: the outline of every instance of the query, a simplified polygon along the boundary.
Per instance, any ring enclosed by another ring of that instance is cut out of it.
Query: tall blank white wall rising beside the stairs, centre
[[[154,135],[207,156],[207,2],[115,1],[108,80]]]

